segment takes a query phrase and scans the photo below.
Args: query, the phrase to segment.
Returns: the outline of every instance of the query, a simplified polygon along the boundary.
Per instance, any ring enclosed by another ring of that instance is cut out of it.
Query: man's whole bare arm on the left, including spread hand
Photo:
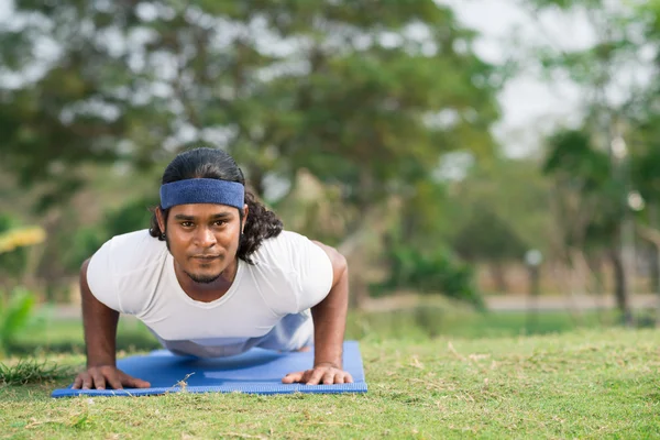
[[[74,388],[105,389],[108,385],[114,389],[129,386],[145,388],[145,381],[129,376],[117,370],[117,323],[119,311],[99,301],[87,283],[89,260],[80,267],[80,296],[82,300],[82,322],[85,345],[87,349],[87,371],[78,374]]]

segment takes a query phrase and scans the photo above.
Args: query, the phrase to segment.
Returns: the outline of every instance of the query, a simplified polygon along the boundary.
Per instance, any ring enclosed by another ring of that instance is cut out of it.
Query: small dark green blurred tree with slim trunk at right
[[[627,323],[631,310],[622,258],[620,233],[628,207],[626,185],[617,178],[609,156],[593,145],[584,130],[558,131],[548,140],[544,172],[554,176],[554,221],[561,232],[558,253],[571,267],[584,255],[605,253],[615,274],[615,297]]]

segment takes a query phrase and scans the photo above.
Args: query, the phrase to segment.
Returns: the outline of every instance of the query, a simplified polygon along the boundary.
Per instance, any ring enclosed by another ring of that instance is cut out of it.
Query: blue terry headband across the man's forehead
[[[217,204],[243,209],[245,187],[238,182],[191,178],[161,187],[161,208],[175,205]]]

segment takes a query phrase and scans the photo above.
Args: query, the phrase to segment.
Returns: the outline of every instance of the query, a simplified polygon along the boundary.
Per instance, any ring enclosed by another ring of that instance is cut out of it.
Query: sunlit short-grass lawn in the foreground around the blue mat
[[[361,341],[364,395],[52,399],[0,387],[0,438],[658,438],[660,331]],[[46,358],[41,358],[46,359]],[[81,355],[48,355],[81,365]]]

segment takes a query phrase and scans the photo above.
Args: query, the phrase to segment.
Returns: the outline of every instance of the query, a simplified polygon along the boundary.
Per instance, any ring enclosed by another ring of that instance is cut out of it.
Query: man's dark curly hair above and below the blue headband
[[[238,182],[245,185],[243,172],[237,165],[235,161],[222,150],[199,147],[185,151],[177,155],[165,168],[162,178],[162,185],[173,182],[190,178],[215,178],[219,180]],[[254,195],[245,189],[245,204],[248,205],[249,216],[245,221],[245,229],[241,235],[237,256],[246,263],[253,264],[250,255],[254,253],[262,241],[272,237],[277,237],[282,232],[282,220],[277,216],[260,204]],[[163,209],[163,218],[167,223],[168,209]],[[239,209],[241,222],[243,221],[243,211]],[[148,233],[161,241],[165,241],[165,231],[161,231],[155,212],[151,219]]]

